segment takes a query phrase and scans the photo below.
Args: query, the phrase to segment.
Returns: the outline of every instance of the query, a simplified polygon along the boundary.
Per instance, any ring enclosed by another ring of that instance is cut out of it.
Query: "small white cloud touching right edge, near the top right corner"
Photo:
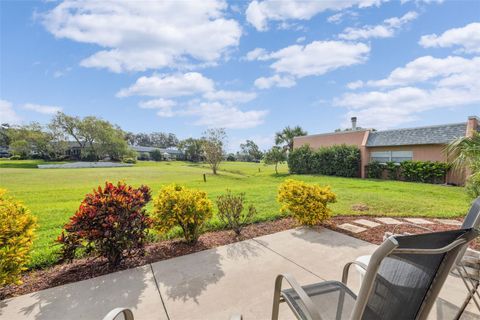
[[[464,52],[480,53],[480,22],[447,30],[439,36],[436,34],[422,36],[419,44],[424,48],[459,46]]]

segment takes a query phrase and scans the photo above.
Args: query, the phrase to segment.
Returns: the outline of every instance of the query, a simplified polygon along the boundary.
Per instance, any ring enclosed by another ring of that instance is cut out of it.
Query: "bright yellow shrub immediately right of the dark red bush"
[[[168,232],[175,226],[182,228],[185,239],[195,243],[205,221],[212,217],[212,202],[207,193],[171,184],[163,187],[153,201],[151,215],[154,227]]]

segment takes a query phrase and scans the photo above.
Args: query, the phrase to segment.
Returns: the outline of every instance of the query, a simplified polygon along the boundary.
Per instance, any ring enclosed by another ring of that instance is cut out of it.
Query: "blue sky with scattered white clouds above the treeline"
[[[480,115],[479,1],[1,1],[0,120],[58,110],[230,148]]]

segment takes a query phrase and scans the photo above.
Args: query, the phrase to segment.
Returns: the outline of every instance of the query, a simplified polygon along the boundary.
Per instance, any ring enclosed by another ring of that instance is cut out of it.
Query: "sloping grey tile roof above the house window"
[[[367,147],[446,144],[465,136],[467,123],[370,132]]]

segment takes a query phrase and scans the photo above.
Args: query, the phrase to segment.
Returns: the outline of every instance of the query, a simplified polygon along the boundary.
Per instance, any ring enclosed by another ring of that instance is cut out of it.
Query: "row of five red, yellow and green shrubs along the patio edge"
[[[148,213],[145,208],[151,198],[149,187],[134,188],[123,182],[106,182],[94,189],[57,238],[61,260],[95,254],[115,267],[127,257],[144,254],[152,229],[165,234],[179,228],[185,240],[193,244],[213,215],[213,202],[200,190],[177,184],[164,186],[153,201],[153,211]],[[288,179],[280,185],[277,200],[282,212],[301,224],[314,225],[330,217],[327,204],[335,198],[329,187]],[[216,199],[218,218],[236,235],[256,214],[253,205],[245,208],[244,200],[244,193],[230,190]],[[0,287],[17,283],[25,270],[34,228],[30,212],[0,190]]]

